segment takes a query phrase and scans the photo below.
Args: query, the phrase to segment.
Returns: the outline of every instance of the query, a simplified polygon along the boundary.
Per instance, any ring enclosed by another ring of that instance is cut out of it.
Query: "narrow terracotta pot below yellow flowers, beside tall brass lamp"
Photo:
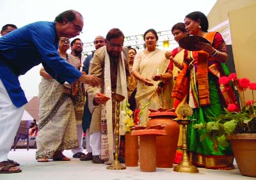
[[[138,136],[125,133],[125,166],[137,167],[138,159]]]

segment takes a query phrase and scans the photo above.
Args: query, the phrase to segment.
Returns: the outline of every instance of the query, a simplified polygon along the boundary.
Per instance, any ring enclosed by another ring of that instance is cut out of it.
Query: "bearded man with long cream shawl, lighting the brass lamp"
[[[111,92],[122,94],[127,99],[127,76],[129,76],[128,50],[123,44],[122,31],[117,28],[111,29],[106,36],[106,46],[96,50],[90,62],[89,74],[102,79],[100,87],[87,87],[88,103],[92,112],[90,146],[93,163],[104,163],[108,160],[106,164],[109,164],[114,160],[115,143],[114,134],[111,132],[115,128],[116,101],[111,98]],[[104,96],[108,96],[110,100],[106,100]],[[123,125],[121,119],[121,135],[124,133]]]

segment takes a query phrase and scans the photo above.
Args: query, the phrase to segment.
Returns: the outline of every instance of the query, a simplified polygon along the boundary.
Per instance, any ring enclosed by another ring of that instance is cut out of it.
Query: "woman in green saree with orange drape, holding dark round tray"
[[[205,131],[192,128],[194,124],[212,121],[227,107],[227,101],[236,102],[234,94],[224,96],[220,91],[218,79],[229,73],[225,64],[227,49],[225,41],[218,32],[207,32],[208,20],[204,13],[195,11],[185,17],[186,31],[189,35],[200,36],[210,43],[198,42],[198,51],[184,54],[183,69],[180,71],[172,96],[174,107],[187,96],[186,101],[193,109],[195,119],[188,126],[188,147],[191,161],[198,167],[207,169],[234,169],[234,156],[230,146],[214,147],[210,139],[200,142]],[[218,148],[218,149],[217,149]]]

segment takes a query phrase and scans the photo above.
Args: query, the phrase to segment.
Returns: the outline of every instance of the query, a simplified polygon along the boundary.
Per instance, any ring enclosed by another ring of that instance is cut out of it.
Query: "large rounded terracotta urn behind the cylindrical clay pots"
[[[176,148],[179,140],[179,124],[173,121],[177,117],[175,112],[151,112],[151,119],[147,123],[147,127],[161,124],[165,126],[167,135],[156,137],[156,167],[169,168],[173,167]]]

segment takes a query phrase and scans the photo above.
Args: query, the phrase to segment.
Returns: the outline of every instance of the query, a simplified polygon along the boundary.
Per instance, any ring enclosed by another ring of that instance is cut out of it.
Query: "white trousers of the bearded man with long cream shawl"
[[[90,146],[92,147],[93,156],[97,156],[101,154],[101,132],[100,131],[90,134]],[[113,152],[115,153],[115,133],[113,133]]]

